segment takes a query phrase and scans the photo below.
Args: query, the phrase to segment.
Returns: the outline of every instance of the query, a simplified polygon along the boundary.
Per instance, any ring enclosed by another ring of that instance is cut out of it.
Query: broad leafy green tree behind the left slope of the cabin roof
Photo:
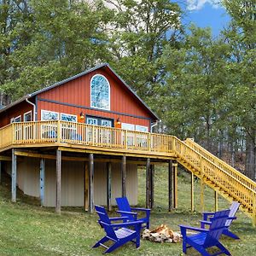
[[[17,38],[27,32],[27,43],[9,56],[14,72],[2,86],[13,99],[108,57],[102,24],[111,11],[102,3],[91,9],[84,1],[31,0],[29,10],[30,19],[20,20],[13,30]]]

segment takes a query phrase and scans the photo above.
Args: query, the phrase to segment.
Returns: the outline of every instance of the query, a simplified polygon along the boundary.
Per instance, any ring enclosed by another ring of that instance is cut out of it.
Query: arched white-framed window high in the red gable
[[[110,110],[110,85],[100,74],[90,80],[90,107]]]

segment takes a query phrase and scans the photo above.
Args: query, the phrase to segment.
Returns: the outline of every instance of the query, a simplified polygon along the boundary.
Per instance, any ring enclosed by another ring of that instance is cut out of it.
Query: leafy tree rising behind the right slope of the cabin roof
[[[139,96],[157,96],[164,70],[160,63],[166,44],[177,44],[181,9],[169,0],[105,0],[114,10],[110,49],[112,66]]]

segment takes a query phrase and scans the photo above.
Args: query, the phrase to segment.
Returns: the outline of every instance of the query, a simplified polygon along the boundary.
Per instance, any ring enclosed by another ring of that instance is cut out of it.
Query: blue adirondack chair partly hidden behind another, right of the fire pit
[[[233,201],[233,203],[230,206],[230,214],[229,218],[226,221],[226,228],[223,230],[223,235],[230,236],[234,239],[240,239],[238,236],[236,236],[234,233],[232,233],[230,229],[230,224],[234,219],[236,219],[236,212],[238,211],[238,208],[240,207],[240,203],[237,201]],[[201,228],[205,229],[206,224],[209,224],[209,221],[211,221],[211,218],[213,216],[214,212],[203,212],[203,221],[201,221]]]

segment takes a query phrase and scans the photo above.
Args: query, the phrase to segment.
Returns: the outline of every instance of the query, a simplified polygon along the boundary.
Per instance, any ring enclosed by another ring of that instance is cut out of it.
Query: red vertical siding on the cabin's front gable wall
[[[110,112],[86,109],[90,108],[90,79],[95,74],[104,75],[110,84]],[[45,99],[44,102],[40,99]],[[65,102],[79,107],[70,107],[53,102]],[[85,108],[81,108],[85,107]],[[119,118],[121,122],[134,125],[150,125],[151,113],[143,106],[141,102],[128,90],[124,84],[112,73],[103,69],[85,74],[84,76],[73,79],[66,84],[56,86],[52,90],[47,90],[38,95],[38,119],[41,119],[41,109],[55,111],[59,113],[77,114],[83,111],[85,114],[106,117],[110,119]],[[118,113],[111,113],[118,112]],[[119,114],[122,113],[122,114]],[[129,116],[131,115],[131,116]]]

